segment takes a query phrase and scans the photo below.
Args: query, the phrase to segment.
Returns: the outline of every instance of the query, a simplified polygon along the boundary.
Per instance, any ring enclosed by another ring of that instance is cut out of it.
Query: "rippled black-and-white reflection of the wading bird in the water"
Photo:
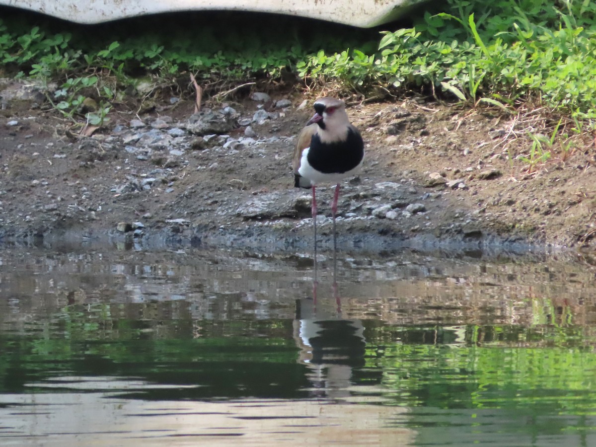
[[[334,283],[334,294],[337,291]],[[339,304],[339,298],[336,296]],[[294,340],[299,362],[309,368],[308,379],[319,396],[348,396],[353,368],[364,366],[366,340],[359,319],[344,319],[337,309],[320,308],[310,298],[296,300]]]

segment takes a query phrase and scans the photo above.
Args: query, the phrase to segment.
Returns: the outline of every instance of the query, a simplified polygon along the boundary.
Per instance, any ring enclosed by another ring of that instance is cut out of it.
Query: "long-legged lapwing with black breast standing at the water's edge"
[[[312,222],[315,234],[316,281],[316,186],[335,183],[331,203],[333,216],[333,249],[337,250],[336,214],[340,182],[356,175],[364,162],[364,141],[347,116],[346,104],[337,98],[318,98],[313,104],[314,116],[298,135],[292,167],[294,187],[312,189]]]

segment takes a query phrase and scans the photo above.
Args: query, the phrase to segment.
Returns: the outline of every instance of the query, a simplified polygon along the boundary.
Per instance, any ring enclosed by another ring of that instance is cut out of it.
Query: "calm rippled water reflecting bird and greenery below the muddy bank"
[[[594,267],[471,254],[4,247],[0,444],[596,445]]]

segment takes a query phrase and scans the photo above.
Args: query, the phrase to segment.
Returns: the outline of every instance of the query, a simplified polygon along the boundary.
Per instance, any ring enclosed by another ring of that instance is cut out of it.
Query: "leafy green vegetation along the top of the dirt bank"
[[[198,16],[161,16],[67,33],[55,21],[32,27],[15,14],[0,19],[0,61],[8,75],[58,80],[61,87],[50,99],[65,116],[80,114],[83,99],[92,95],[98,105],[87,119],[95,125],[139,79],[151,79],[154,91],[185,89],[192,73],[207,94],[246,80],[301,80],[313,89],[368,97],[419,92],[508,113],[528,104],[546,107],[565,118],[557,131],[566,138],[550,142],[560,146],[563,159],[570,138],[592,130],[596,3],[448,0],[429,8],[434,10],[414,14],[411,26],[381,36],[378,30],[229,13],[200,23],[193,21]],[[547,123],[547,133],[558,117]],[[536,138],[522,160],[529,171],[550,154]]]

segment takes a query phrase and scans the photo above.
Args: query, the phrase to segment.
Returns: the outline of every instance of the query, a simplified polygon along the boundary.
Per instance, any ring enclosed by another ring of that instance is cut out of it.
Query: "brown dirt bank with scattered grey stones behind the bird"
[[[104,128],[80,136],[39,95],[17,99],[7,94],[11,89],[12,81],[0,82],[5,242],[107,237],[147,245],[311,246],[310,192],[293,188],[290,163],[313,97],[269,92],[272,101],[263,108],[277,114],[251,124],[254,144],[209,147],[185,131],[171,145],[139,157],[141,142],[131,135],[184,131],[194,98],[172,104],[166,97],[153,107],[131,100],[110,113]],[[290,107],[275,108],[281,99]],[[203,107],[233,107],[244,125],[234,125],[228,141],[240,139],[260,103],[248,95],[226,101]],[[529,153],[524,136],[541,130],[532,114],[470,110],[432,98],[347,102],[365,139],[366,159],[361,175],[342,187],[340,246],[591,247],[593,142],[566,160],[553,151],[528,173],[526,163],[511,163],[508,156]],[[154,123],[163,117],[160,128]],[[140,120],[140,127],[132,120]],[[132,149],[130,141],[136,141]],[[319,212],[327,217],[332,188],[322,187],[318,195]],[[320,243],[330,244],[330,219],[319,228]]]

